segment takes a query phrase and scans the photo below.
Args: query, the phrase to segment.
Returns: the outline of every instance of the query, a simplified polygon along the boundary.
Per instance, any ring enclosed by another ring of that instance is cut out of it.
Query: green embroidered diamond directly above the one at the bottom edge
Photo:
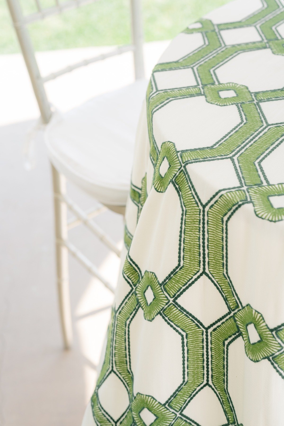
[[[150,303],[148,303],[148,300],[150,299],[146,299],[146,291],[148,296],[149,292],[152,291],[153,299]],[[141,281],[137,286],[136,294],[144,311],[144,318],[148,321],[152,321],[158,312],[164,308],[166,302],[168,301],[161,289],[160,283],[158,282],[155,273],[153,272],[146,271],[144,273]]]

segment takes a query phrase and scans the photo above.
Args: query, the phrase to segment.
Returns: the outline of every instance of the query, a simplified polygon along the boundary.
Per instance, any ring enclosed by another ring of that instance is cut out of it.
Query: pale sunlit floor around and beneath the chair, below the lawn
[[[145,45],[148,76],[167,44]],[[38,60],[46,74],[100,50],[44,52]],[[66,110],[130,83],[132,72],[130,53],[110,58],[49,83],[49,98]],[[0,425],[80,426],[94,389],[113,296],[70,259],[74,345],[63,351],[50,167],[38,135],[36,167],[24,168],[24,136],[38,110],[20,55],[0,56],[0,82]],[[84,207],[94,204],[76,188],[69,190]],[[121,216],[106,212],[95,220],[122,245]],[[70,236],[115,284],[119,259],[83,226],[70,231]]]

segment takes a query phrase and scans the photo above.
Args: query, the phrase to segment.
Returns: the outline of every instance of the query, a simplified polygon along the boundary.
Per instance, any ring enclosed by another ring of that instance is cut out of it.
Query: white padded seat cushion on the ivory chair
[[[92,98],[46,128],[55,168],[109,205],[125,205],[130,187],[135,133],[147,82]]]

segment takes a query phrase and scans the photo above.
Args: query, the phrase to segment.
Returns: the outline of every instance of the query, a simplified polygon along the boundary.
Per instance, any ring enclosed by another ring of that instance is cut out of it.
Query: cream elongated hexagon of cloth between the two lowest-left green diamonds
[[[146,321],[139,308],[129,324],[129,346],[134,394],[152,395],[164,404],[183,382],[181,334],[161,315]]]

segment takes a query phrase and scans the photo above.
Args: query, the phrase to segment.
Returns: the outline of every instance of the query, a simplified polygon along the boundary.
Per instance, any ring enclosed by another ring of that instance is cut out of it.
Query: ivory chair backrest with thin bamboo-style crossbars
[[[7,0],[14,28],[17,33],[23,57],[26,62],[30,79],[32,81],[34,94],[37,98],[37,103],[44,123],[48,123],[52,116],[52,110],[46,95],[44,83],[50,80],[54,80],[55,78],[67,72],[71,72],[73,69],[79,68],[80,66],[86,66],[89,63],[93,63],[98,60],[109,58],[110,56],[119,55],[123,52],[132,51],[134,56],[135,79],[137,80],[144,77],[143,27],[140,0],[129,0],[131,7],[132,44],[120,46],[116,49],[113,49],[111,52],[80,61],[46,76],[42,76],[40,74],[27,25],[37,20],[42,20],[48,16],[61,14],[68,9],[77,8],[95,1],[99,0],[54,0],[55,3],[53,7],[44,8],[41,4],[41,0],[34,0],[37,12],[24,16],[19,0]]]

